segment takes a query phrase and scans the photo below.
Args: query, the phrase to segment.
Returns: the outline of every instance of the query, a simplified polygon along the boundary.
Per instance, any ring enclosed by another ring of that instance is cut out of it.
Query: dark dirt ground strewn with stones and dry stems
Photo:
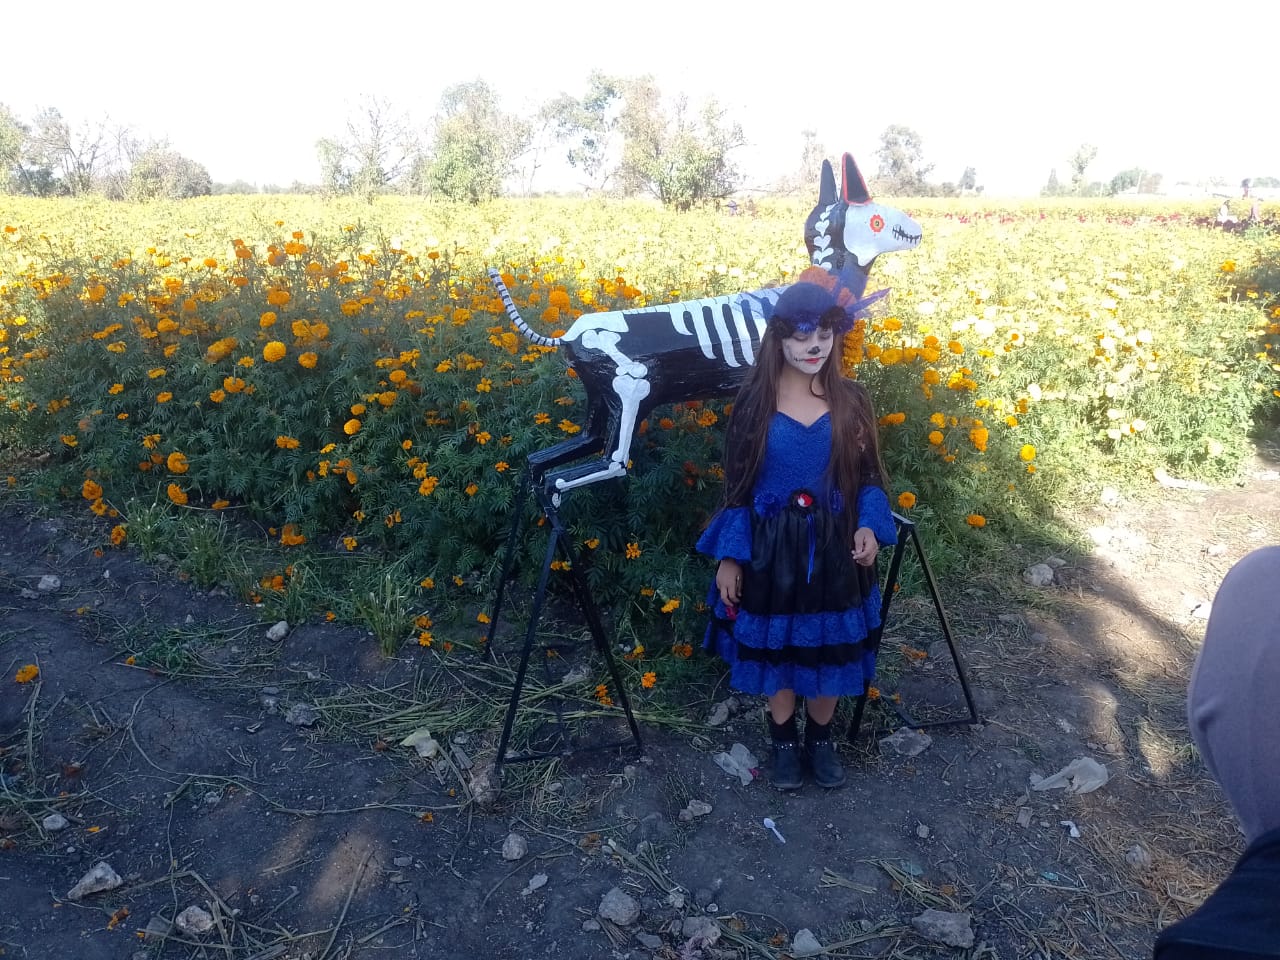
[[[767,744],[758,704],[712,727],[708,698],[685,730],[643,724],[640,755],[509,765],[500,796],[475,797],[498,731],[466,704],[500,705],[483,671],[442,672],[417,646],[383,659],[328,623],[268,640],[253,608],[0,504],[0,954],[781,957],[806,928],[844,957],[1147,957],[1243,847],[1183,705],[1202,604],[1280,541],[1276,468],[1260,456],[1238,486],[1082,504],[1093,548],[1064,552],[1048,586],[943,582],[982,722],[929,731],[914,756],[879,744],[900,726],[891,692],[920,717],[964,700],[928,602],[901,602],[847,786],[787,795],[714,763]],[[19,685],[28,663],[40,677]],[[297,705],[310,726],[287,718]],[[399,745],[442,716],[448,760]],[[1108,782],[1029,788],[1076,758]],[[710,812],[682,820],[690,801]],[[69,899],[101,861],[120,886]],[[637,919],[598,915],[613,887]],[[207,931],[172,925],[189,906]],[[973,946],[916,931],[927,909],[969,914]]]

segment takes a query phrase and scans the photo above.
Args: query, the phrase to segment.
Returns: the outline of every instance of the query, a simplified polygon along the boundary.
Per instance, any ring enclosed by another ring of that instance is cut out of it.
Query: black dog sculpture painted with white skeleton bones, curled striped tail
[[[823,161],[818,205],[805,220],[805,246],[814,266],[861,298],[876,257],[916,246],[920,227],[901,210],[872,201],[849,154],[842,165],[837,197],[835,173]],[[539,472],[563,467],[545,477],[557,493],[623,476],[636,424],[654,407],[735,393],[755,362],[773,305],[787,289],[584,314],[563,337],[550,338],[529,328],[497,270],[490,269],[489,278],[516,329],[540,346],[563,346],[586,389],[582,433],[530,458]],[[593,461],[563,466],[599,451],[603,454]]]

